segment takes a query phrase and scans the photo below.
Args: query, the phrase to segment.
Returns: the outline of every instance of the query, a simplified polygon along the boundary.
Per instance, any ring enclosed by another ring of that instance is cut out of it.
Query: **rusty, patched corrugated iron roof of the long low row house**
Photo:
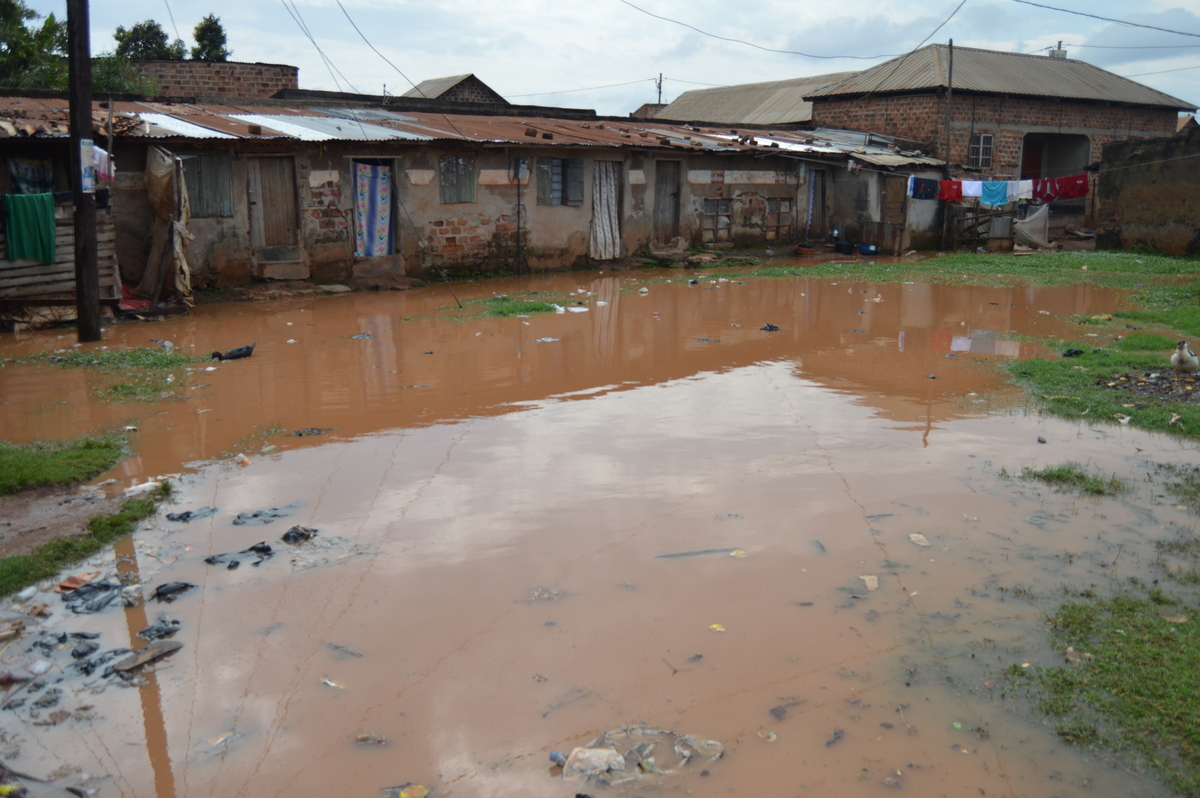
[[[104,134],[108,109],[94,107],[92,125]],[[901,149],[894,139],[850,131],[764,131],[754,127],[679,125],[664,120],[582,120],[484,116],[385,109],[263,107],[118,102],[115,136],[172,139],[282,139],[301,142],[439,142],[476,146],[589,146],[672,152],[749,152],[841,160],[886,166],[941,163]],[[66,100],[0,97],[0,139],[65,138]]]

